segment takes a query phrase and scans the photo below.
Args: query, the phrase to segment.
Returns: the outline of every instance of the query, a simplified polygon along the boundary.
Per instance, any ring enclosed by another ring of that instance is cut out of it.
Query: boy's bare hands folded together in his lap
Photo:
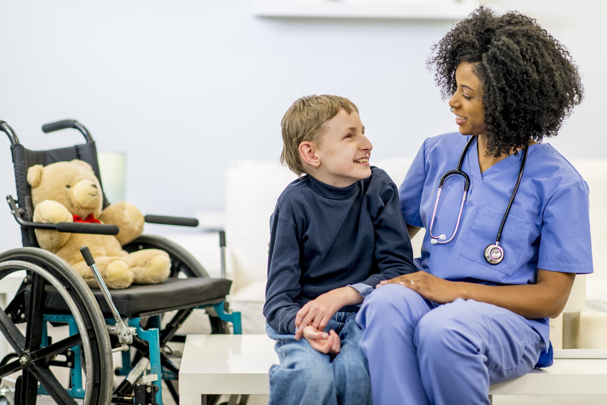
[[[352,287],[336,288],[308,301],[295,316],[295,339],[302,336],[320,353],[336,355],[341,348],[339,335],[331,329],[324,332],[329,319],[346,305],[360,304],[361,294]]]

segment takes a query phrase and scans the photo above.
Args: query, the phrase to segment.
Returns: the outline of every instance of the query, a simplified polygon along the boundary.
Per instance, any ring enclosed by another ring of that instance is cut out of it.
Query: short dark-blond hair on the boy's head
[[[358,107],[345,97],[313,94],[298,98],[280,121],[283,143],[280,163],[297,175],[305,173],[299,160],[300,143],[314,142],[325,131],[325,123],[341,109],[359,114]]]

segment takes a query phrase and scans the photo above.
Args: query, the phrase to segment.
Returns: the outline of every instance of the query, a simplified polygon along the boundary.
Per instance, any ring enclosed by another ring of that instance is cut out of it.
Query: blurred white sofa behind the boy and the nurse
[[[384,169],[397,185],[412,158],[395,157],[371,162]],[[594,274],[578,276],[569,307],[607,312],[607,160],[572,160],[588,182]],[[243,333],[265,333],[262,314],[270,240],[270,215],[280,192],[296,176],[278,162],[242,160],[232,163],[226,172],[226,237],[228,276],[232,277],[229,301],[241,311]],[[413,252],[419,256],[423,233],[413,240]],[[586,282],[586,278],[588,281]]]

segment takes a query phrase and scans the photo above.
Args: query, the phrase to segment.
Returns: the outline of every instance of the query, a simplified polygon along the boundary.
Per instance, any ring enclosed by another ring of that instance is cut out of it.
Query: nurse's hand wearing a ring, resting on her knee
[[[411,288],[427,300],[437,302],[438,304],[453,302],[456,298],[461,298],[463,295],[458,282],[441,279],[441,277],[433,276],[423,270],[381,281],[376,287],[381,287],[385,284],[399,284],[403,287]]]

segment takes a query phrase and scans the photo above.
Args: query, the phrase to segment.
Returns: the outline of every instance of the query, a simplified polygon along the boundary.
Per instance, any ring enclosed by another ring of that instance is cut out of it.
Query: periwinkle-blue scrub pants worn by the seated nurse
[[[472,299],[438,305],[398,284],[369,294],[356,321],[373,404],[489,404],[489,385],[529,372],[546,345],[512,311]]]

